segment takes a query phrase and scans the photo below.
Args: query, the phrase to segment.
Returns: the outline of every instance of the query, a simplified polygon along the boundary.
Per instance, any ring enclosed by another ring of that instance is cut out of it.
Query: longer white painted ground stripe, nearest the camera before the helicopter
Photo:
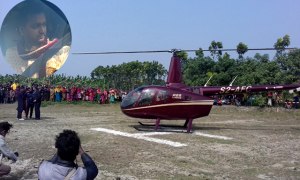
[[[145,140],[145,141],[150,141],[150,142],[156,142],[156,143],[159,143],[159,144],[170,145],[170,146],[173,146],[173,147],[187,146],[187,144],[182,144],[182,143],[179,143],[179,142],[173,142],[173,141],[168,141],[168,140],[164,140],[164,139],[157,139],[157,138],[145,137],[143,135],[143,133],[141,133],[141,134],[130,134],[130,133],[125,133],[125,132],[115,131],[115,130],[105,129],[105,128],[91,128],[91,130],[106,132],[106,133],[109,133],[109,134],[114,134],[114,135],[119,135],[119,136],[132,137],[132,138],[136,138],[136,139],[142,139],[142,140]],[[149,134],[149,133],[145,133],[145,134]]]

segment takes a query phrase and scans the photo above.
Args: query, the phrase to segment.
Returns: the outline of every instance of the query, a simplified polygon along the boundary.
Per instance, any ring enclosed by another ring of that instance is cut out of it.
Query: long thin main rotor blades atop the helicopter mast
[[[295,48],[284,48],[283,50],[294,50]],[[83,53],[72,53],[72,54],[133,54],[133,53],[173,53],[173,52],[196,52],[196,51],[236,51],[237,49],[217,49],[217,50],[180,50],[180,49],[171,49],[171,50],[161,50],[161,51],[116,51],[116,52],[83,52]],[[248,51],[261,51],[261,50],[280,50],[275,48],[256,48],[256,49],[247,49]]]

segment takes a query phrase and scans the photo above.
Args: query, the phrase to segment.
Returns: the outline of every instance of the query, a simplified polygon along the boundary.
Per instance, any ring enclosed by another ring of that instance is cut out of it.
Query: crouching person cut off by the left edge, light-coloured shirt
[[[7,157],[13,161],[17,161],[18,160],[18,153],[14,153],[12,152],[5,143],[5,136],[9,133],[10,128],[12,128],[13,125],[9,124],[8,122],[1,122],[0,123],[0,151],[1,151],[1,155],[0,155],[0,162],[2,161],[3,157]],[[0,165],[0,177],[2,177],[3,175],[8,175],[10,173],[10,166],[7,165]]]

